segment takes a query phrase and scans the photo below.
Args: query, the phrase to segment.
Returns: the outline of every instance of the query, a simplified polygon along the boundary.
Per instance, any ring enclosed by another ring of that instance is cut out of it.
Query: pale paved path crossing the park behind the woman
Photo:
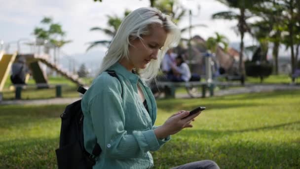
[[[230,94],[240,94],[240,93],[254,93],[254,92],[265,92],[265,91],[275,91],[275,90],[300,90],[300,85],[293,84],[246,84],[244,87],[228,88],[215,91],[215,96],[224,96]],[[207,93],[207,96],[209,93]],[[190,98],[187,93],[176,94],[176,98]],[[52,98],[52,99],[42,99],[42,100],[5,100],[0,102],[0,105],[8,104],[70,104],[77,98]]]

